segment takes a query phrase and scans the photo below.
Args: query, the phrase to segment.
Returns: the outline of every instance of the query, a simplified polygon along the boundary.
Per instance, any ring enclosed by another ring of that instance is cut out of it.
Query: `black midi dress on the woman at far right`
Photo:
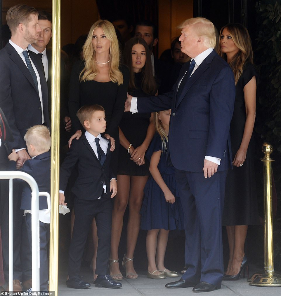
[[[234,112],[230,124],[232,160],[240,147],[246,121],[244,86],[257,77],[251,63],[244,65],[243,73],[236,85]],[[226,177],[223,225],[258,225],[258,202],[254,168],[254,139],[250,139],[246,160],[242,167],[233,166]]]

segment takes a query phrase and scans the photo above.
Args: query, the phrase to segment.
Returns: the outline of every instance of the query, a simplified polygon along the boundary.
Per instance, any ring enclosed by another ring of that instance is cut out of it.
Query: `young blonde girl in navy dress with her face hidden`
[[[157,134],[146,152],[150,159],[151,177],[144,188],[140,228],[148,230],[146,253],[147,277],[165,279],[179,275],[164,266],[169,230],[181,229],[183,210],[178,197],[174,167],[167,160],[167,141],[171,110],[156,112],[154,124]]]

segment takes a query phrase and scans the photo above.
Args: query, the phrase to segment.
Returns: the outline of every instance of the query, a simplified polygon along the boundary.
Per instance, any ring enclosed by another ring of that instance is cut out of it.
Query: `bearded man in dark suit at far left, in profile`
[[[0,105],[12,131],[14,141],[6,141],[1,147],[1,169],[5,170],[7,152],[16,149],[19,159],[17,168],[30,159],[23,136],[28,128],[36,124],[50,126],[48,115],[48,89],[38,57],[28,52],[27,46],[36,42],[41,32],[38,12],[27,5],[15,5],[7,12],[7,24],[12,37],[0,51]],[[1,182],[1,230],[3,242],[4,273],[8,278],[8,193]],[[4,190],[4,192],[3,192]],[[16,196],[16,192],[14,192]],[[19,212],[20,200],[14,199],[14,291],[21,291],[20,280],[31,279],[31,271],[22,275],[20,266],[20,236],[23,213]],[[3,221],[3,223],[2,223]],[[23,262],[22,262],[23,263]],[[29,277],[29,278],[28,278]]]

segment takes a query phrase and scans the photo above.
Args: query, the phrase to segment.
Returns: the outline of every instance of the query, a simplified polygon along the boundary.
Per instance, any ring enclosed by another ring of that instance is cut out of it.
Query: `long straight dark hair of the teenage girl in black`
[[[146,94],[154,95],[157,91],[157,86],[152,74],[152,65],[151,65],[149,47],[142,38],[138,38],[138,37],[134,37],[128,40],[124,48],[124,64],[127,65],[130,70],[130,81],[129,81],[128,91],[132,91],[136,89],[135,73],[133,71],[133,65],[132,65],[132,47],[135,44],[143,45],[146,52],[146,62],[143,68],[141,69],[141,89]]]

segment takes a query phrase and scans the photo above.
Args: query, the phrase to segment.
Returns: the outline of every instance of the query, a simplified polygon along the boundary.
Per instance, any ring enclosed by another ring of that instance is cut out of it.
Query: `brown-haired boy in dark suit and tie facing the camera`
[[[74,228],[69,247],[68,276],[69,288],[85,289],[90,283],[79,275],[87,235],[95,217],[98,228],[98,253],[96,287],[119,288],[108,275],[108,258],[111,238],[110,198],[117,192],[116,178],[110,168],[110,145],[100,133],[106,130],[104,109],[100,105],[83,106],[77,112],[80,123],[86,129],[79,140],[72,141],[71,148],[60,168],[59,204],[65,205],[66,189],[71,170],[77,164],[78,177],[72,187],[74,199]],[[111,193],[112,191],[112,193]]]

